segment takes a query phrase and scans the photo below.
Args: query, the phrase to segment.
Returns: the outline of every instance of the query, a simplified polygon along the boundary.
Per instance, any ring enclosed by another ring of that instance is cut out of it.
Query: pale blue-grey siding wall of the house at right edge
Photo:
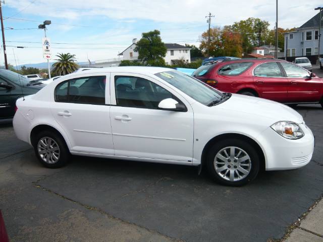
[[[289,33],[284,34],[284,56],[286,56],[286,51],[287,49],[295,49],[295,56],[306,56],[305,54],[305,49],[306,48],[311,48],[311,54],[314,55],[314,48],[318,47],[318,40],[315,40],[315,35],[314,31],[317,30],[318,28],[308,28],[308,29],[300,29],[297,32],[294,32],[294,39],[289,39]],[[312,40],[306,40],[306,31],[311,31],[312,32]],[[302,38],[302,33],[304,33],[304,38]],[[321,29],[322,33],[322,29]],[[286,37],[288,37],[287,41],[287,48],[286,48]],[[302,43],[303,42],[303,43]],[[320,54],[323,53],[323,38],[321,38],[320,41]],[[303,53],[302,53],[303,49]],[[317,53],[315,53],[317,54]],[[292,55],[291,55],[292,56]]]

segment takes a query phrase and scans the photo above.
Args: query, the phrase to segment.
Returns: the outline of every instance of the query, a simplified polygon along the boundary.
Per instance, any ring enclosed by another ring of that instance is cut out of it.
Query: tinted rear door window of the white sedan
[[[105,76],[81,77],[57,85],[55,100],[86,104],[105,103]]]

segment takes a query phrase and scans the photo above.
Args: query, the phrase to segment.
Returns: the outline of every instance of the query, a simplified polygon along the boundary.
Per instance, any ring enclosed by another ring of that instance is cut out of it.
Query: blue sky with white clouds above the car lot
[[[322,6],[319,0],[278,2],[282,28],[299,27]],[[38,29],[44,20],[51,21],[46,33],[53,58],[70,52],[78,62],[118,58],[133,38],[154,29],[160,30],[165,43],[198,46],[209,12],[214,15],[212,27],[249,17],[268,21],[271,29],[276,22],[275,0],[6,0],[2,11],[8,63],[14,66],[46,61],[41,49],[44,31]]]

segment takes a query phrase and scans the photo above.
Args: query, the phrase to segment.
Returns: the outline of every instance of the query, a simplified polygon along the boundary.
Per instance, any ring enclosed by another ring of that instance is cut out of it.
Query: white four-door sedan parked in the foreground
[[[65,165],[70,154],[183,164],[240,186],[261,168],[306,165],[314,148],[292,108],[223,93],[167,68],[73,73],[16,105],[17,137],[50,168]]]

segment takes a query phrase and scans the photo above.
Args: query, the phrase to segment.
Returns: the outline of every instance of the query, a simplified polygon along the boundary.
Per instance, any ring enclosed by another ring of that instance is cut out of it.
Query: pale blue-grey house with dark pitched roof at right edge
[[[309,56],[318,54],[319,13],[295,31],[284,33],[285,56]],[[320,54],[323,52],[322,39]]]

